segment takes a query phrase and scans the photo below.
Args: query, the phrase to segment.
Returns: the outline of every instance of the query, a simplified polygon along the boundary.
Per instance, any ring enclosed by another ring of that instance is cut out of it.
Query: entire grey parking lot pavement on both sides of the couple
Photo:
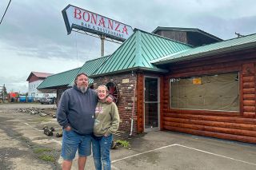
[[[32,106],[54,108],[54,105]],[[60,131],[56,119],[14,112],[21,107],[31,105],[0,105],[0,169],[60,169],[62,139],[42,132],[44,125]],[[127,140],[130,149],[111,150],[112,169],[256,169],[255,144],[178,132],[148,132]],[[40,146],[53,148],[56,163],[38,159],[31,150]],[[72,169],[78,169],[76,162]],[[91,156],[86,169],[94,169]]]

